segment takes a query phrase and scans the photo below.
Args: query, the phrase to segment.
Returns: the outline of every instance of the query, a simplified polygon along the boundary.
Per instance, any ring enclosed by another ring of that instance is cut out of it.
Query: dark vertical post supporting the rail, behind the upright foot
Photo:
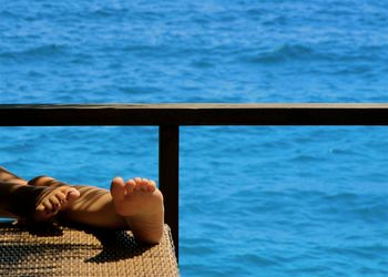
[[[164,197],[165,223],[171,227],[178,259],[180,126],[159,127],[159,183]]]

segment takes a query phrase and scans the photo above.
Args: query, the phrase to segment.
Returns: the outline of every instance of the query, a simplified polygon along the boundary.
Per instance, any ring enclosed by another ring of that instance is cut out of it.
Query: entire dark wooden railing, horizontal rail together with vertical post
[[[0,126],[160,127],[159,184],[178,257],[178,143],[183,125],[388,125],[388,104],[0,105]]]

